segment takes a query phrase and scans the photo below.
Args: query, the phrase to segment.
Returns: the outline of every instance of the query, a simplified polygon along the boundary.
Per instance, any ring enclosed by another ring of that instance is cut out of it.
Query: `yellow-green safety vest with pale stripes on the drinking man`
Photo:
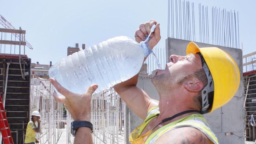
[[[131,144],[139,144],[141,142],[133,141],[140,137],[140,134],[142,133],[143,129],[146,127],[148,122],[150,122],[152,119],[156,118],[159,114],[159,106],[154,106],[151,108],[148,113],[147,117],[140,125],[137,127],[131,134],[129,135],[129,140]],[[152,144],[154,143],[159,137],[161,137],[163,134],[167,133],[168,131],[171,131],[173,129],[177,129],[180,127],[194,127],[198,130],[200,130],[205,136],[207,136],[214,144],[218,144],[218,139],[216,138],[214,132],[212,131],[211,127],[207,124],[205,118],[202,114],[192,114],[189,116],[186,116],[185,118],[181,118],[179,120],[176,120],[174,122],[171,122],[156,131],[154,131],[150,136],[147,137],[145,140],[145,144]]]

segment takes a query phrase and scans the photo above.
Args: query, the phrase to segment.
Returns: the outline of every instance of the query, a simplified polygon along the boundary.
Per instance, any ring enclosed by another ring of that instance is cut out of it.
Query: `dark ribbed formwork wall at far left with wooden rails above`
[[[33,48],[25,39],[25,34],[25,30],[21,27],[15,29],[0,15],[0,63],[3,64],[0,69],[6,70],[1,80],[4,86],[1,93],[11,132],[15,133],[15,143],[24,141],[26,123],[30,119],[28,113],[31,59],[25,55],[25,46]]]

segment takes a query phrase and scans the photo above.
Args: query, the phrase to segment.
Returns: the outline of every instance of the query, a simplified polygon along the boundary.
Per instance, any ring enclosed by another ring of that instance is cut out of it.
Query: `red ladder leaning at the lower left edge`
[[[13,144],[13,138],[12,138],[12,134],[8,125],[8,121],[6,118],[6,113],[4,111],[4,107],[3,107],[3,101],[1,98],[1,94],[0,94],[0,130],[1,130],[1,134],[2,134],[2,138],[3,138],[3,143],[4,144]]]

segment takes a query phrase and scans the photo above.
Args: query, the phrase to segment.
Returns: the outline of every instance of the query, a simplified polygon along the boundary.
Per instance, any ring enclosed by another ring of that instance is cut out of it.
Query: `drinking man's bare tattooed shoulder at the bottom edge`
[[[201,131],[193,127],[181,127],[168,131],[157,139],[157,144],[212,144]]]

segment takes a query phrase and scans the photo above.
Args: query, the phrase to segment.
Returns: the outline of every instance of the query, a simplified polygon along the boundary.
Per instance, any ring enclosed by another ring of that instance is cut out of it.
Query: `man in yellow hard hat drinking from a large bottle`
[[[150,28],[157,27],[148,42],[152,49],[160,40],[160,27],[151,20],[141,24],[135,33],[143,41]],[[90,121],[91,95],[97,85],[85,93],[75,94],[50,79],[65,97],[54,93],[57,102],[64,103],[75,121]],[[129,136],[132,144],[141,143],[218,143],[202,114],[226,104],[236,93],[240,74],[231,56],[218,48],[199,48],[190,42],[187,56],[170,56],[165,70],[157,70],[152,78],[160,100],[151,99],[136,87],[138,74],[114,87],[120,97],[144,122]],[[76,131],[74,143],[93,143],[90,126]]]

